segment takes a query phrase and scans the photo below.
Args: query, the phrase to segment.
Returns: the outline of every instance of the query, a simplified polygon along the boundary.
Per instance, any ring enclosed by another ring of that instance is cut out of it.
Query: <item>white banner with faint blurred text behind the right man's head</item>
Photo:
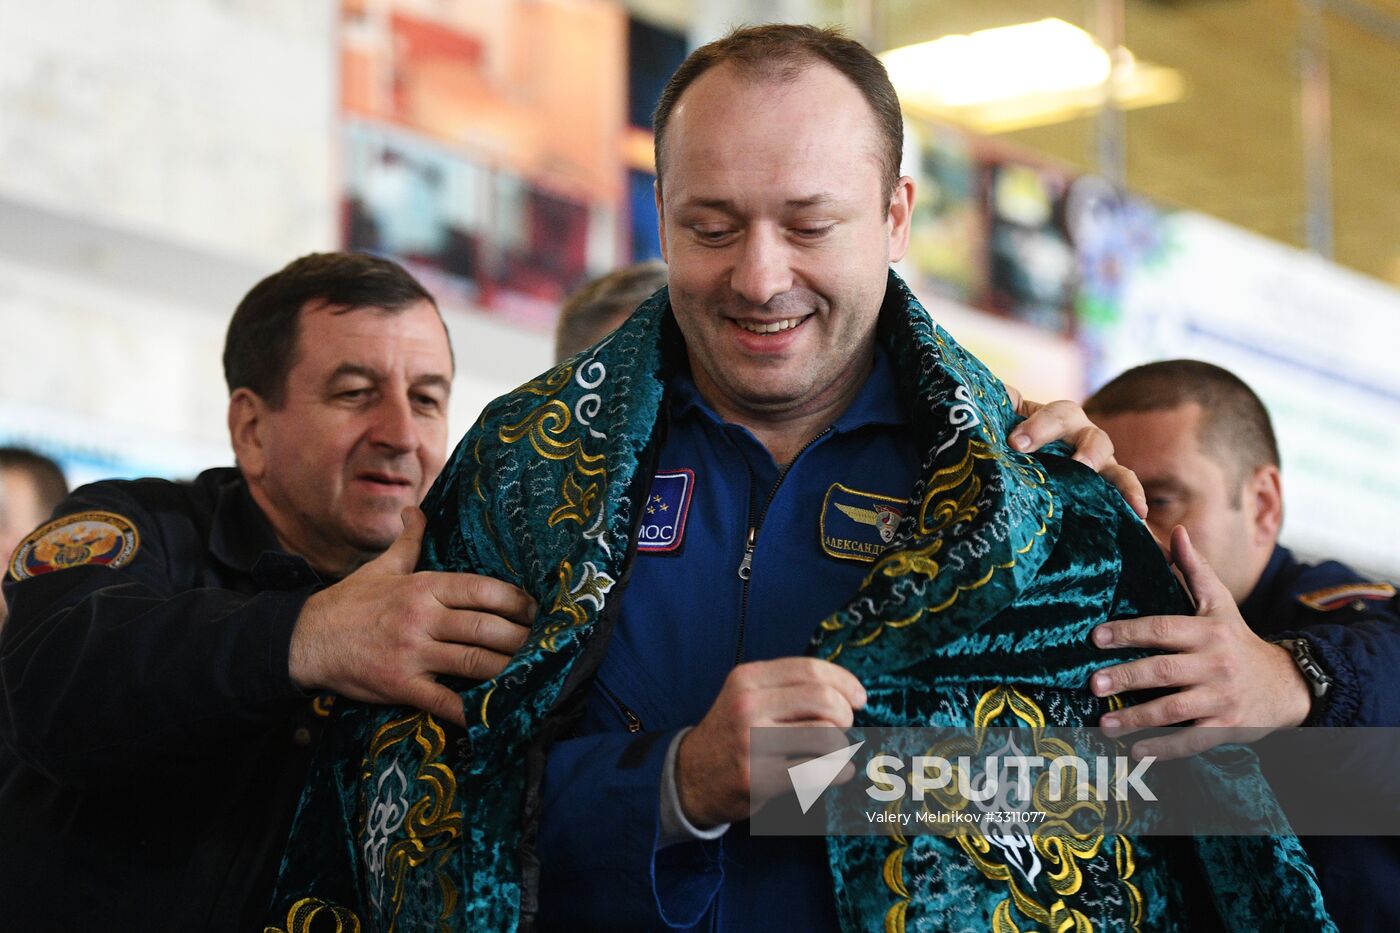
[[[1172,357],[1236,373],[1274,419],[1284,542],[1400,577],[1400,291],[1203,214],[1159,238],[1086,335],[1093,384]]]

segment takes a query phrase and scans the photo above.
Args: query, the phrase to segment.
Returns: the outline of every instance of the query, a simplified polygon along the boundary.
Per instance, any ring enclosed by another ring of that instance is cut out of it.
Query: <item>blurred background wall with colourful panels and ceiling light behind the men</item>
[[[658,254],[655,97],[770,20],[886,55],[944,326],[1033,398],[1236,370],[1285,542],[1400,576],[1397,0],[0,0],[0,443],[228,462],[228,315],[332,248],[440,296],[459,434],[570,289]]]

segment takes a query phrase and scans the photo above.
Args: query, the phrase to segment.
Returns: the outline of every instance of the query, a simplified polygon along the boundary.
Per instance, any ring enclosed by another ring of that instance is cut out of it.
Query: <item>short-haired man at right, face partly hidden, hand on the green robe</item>
[[[1123,710],[1121,728],[1184,720],[1266,728],[1400,724],[1396,588],[1336,560],[1302,563],[1278,546],[1278,447],[1259,396],[1218,366],[1168,360],[1123,373],[1085,409],[1142,481],[1158,537],[1165,541],[1184,525],[1219,577],[1201,601],[1211,618],[1102,626],[1100,644],[1169,651],[1095,675],[1105,678],[1095,684],[1100,695],[1175,688]],[[1266,754],[1266,773],[1270,763]],[[1400,927],[1392,897],[1400,841],[1331,836],[1305,845],[1343,930]]]

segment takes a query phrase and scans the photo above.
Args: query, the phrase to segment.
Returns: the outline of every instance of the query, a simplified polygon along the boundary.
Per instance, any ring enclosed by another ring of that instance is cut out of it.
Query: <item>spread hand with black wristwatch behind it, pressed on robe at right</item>
[[[1093,643],[1099,647],[1165,653],[1103,668],[1089,684],[1096,696],[1154,688],[1173,692],[1106,714],[1103,728],[1128,734],[1191,721],[1221,727],[1186,730],[1133,748],[1135,758],[1182,758],[1224,741],[1254,741],[1275,728],[1301,726],[1312,707],[1308,682],[1287,650],[1250,630],[1229,590],[1180,525],[1172,531],[1172,562],[1196,597],[1196,615],[1152,615],[1098,626]]]

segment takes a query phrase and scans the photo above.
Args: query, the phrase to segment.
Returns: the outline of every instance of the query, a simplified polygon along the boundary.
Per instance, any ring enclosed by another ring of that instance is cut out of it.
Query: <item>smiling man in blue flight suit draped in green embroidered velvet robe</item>
[[[531,640],[455,684],[461,731],[337,706],[274,929],[1331,929],[1291,839],[734,825],[784,790],[752,727],[1092,723],[1089,630],[1187,602],[889,269],[913,181],[874,55],[741,29],[655,130],[668,289],[491,402],[424,500],[424,566],[521,586]],[[1249,756],[1198,776],[1277,814]]]

